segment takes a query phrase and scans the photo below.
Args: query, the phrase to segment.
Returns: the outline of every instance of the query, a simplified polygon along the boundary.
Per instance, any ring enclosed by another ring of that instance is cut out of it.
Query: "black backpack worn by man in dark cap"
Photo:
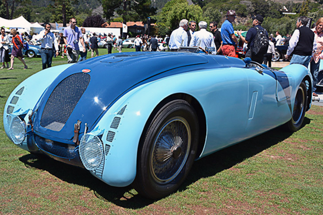
[[[257,35],[254,41],[254,46],[250,47],[253,54],[266,54],[269,45],[269,38],[265,29],[260,30],[258,27],[253,27],[257,30]]]

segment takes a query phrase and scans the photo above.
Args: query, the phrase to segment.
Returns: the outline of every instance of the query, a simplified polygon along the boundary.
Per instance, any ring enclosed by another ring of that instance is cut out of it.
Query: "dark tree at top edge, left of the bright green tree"
[[[129,20],[145,21],[147,17],[156,14],[151,0],[102,0],[102,7],[106,19],[112,20],[116,13],[124,23]]]

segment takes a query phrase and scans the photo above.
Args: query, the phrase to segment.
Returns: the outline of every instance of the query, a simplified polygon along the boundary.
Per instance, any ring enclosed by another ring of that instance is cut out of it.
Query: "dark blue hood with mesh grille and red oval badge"
[[[179,67],[206,64],[204,54],[119,53],[74,64],[61,73],[34,108],[34,132],[44,138],[68,143],[74,124],[91,129],[114,101],[151,77]]]

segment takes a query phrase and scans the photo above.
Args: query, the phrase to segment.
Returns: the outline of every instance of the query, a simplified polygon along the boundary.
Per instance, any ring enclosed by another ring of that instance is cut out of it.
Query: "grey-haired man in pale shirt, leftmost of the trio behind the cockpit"
[[[178,51],[180,46],[187,46],[187,30],[188,21],[187,19],[182,19],[179,22],[178,29],[174,30],[169,39],[169,48],[170,51]]]

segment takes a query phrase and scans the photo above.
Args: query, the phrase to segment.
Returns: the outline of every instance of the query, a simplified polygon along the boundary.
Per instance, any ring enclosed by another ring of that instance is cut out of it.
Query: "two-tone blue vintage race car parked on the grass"
[[[311,105],[307,68],[189,52],[129,52],[48,68],[4,107],[7,136],[33,154],[159,199],[195,159],[285,124]]]

